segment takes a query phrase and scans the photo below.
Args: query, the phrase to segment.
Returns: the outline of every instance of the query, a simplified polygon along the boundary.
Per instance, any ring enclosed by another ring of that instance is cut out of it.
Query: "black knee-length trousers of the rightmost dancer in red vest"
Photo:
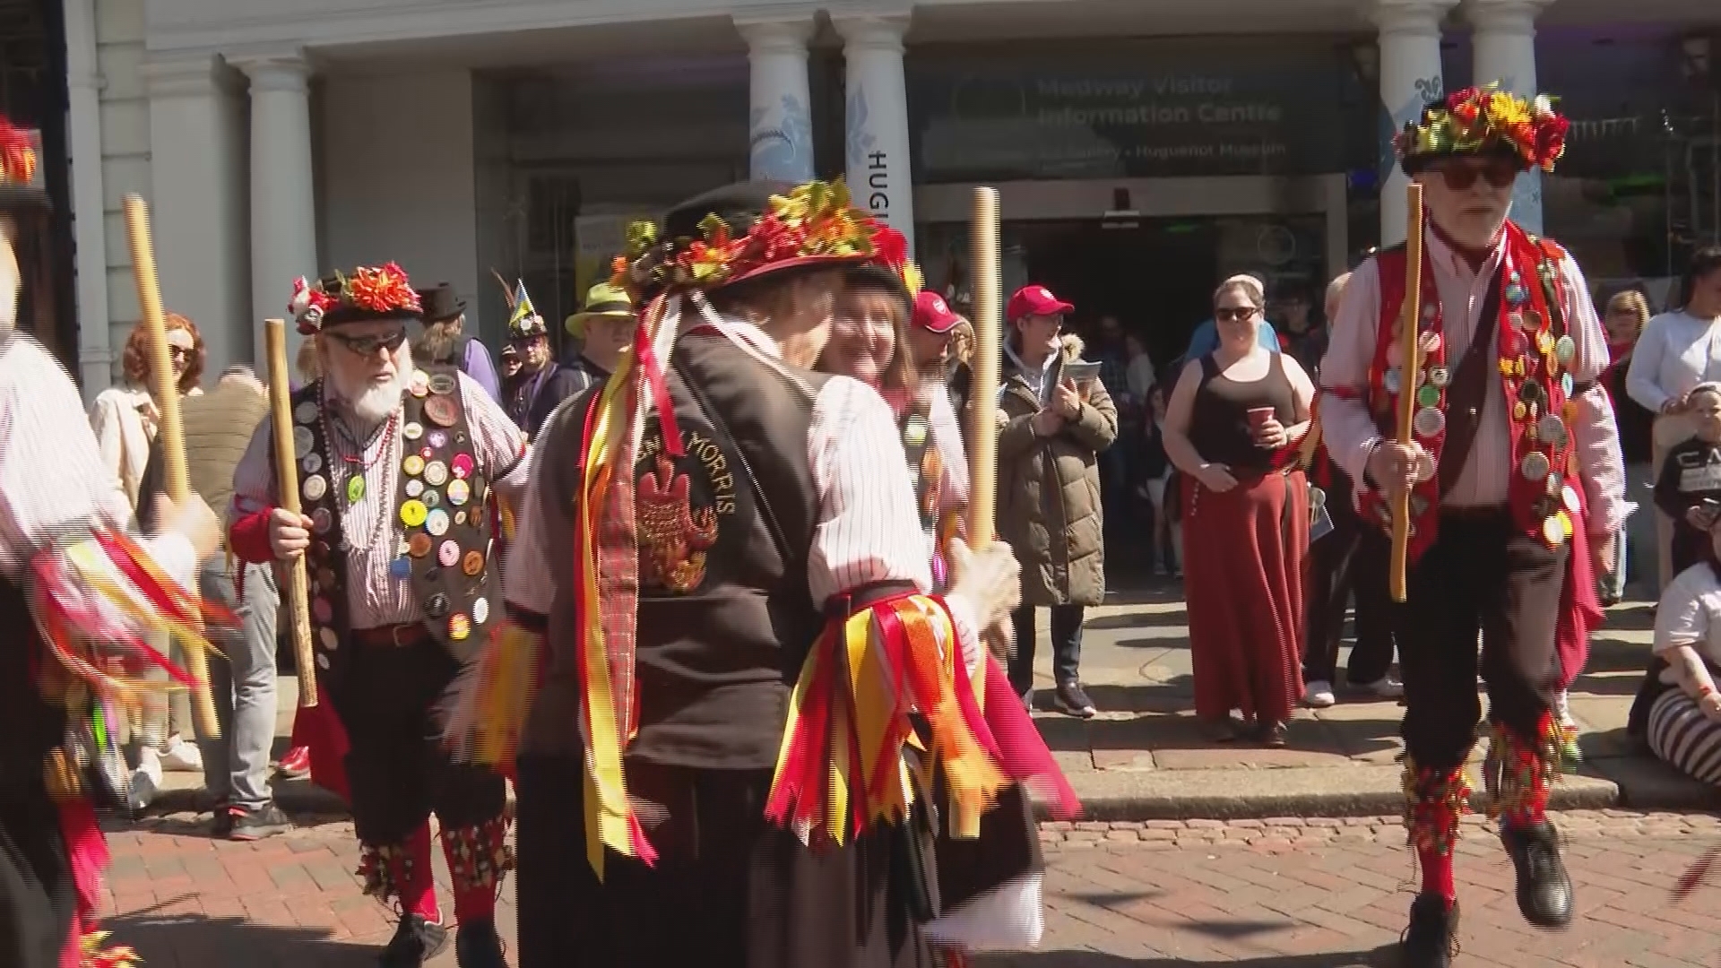
[[[1382,562],[1385,534],[1366,543]],[[1442,513],[1440,536],[1406,575],[1394,605],[1404,675],[1404,751],[1418,766],[1458,768],[1475,744],[1487,680],[1489,718],[1533,742],[1559,689],[1554,630],[1570,546],[1547,548],[1506,510]]]

